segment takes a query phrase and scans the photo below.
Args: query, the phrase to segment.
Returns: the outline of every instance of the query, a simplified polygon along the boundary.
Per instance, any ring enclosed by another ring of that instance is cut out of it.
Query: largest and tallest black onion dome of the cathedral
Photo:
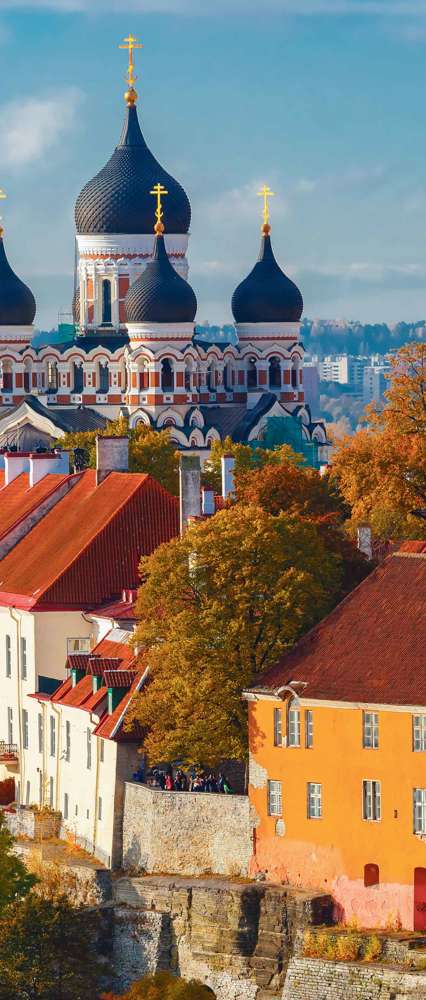
[[[153,198],[149,192],[158,183],[168,191],[163,209],[167,232],[187,233],[191,222],[187,195],[148,149],[136,108],[129,107],[111,159],[77,198],[77,232],[152,232]]]

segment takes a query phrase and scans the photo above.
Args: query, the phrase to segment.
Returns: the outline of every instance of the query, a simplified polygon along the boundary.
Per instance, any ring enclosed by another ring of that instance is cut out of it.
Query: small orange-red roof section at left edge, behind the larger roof
[[[48,473],[31,488],[28,473],[21,472],[20,476],[17,476],[9,486],[6,486],[4,469],[1,469],[0,538],[8,534],[15,524],[18,524],[27,514],[35,510],[46,497],[54,493],[69,478],[69,476],[59,475],[55,472]]]

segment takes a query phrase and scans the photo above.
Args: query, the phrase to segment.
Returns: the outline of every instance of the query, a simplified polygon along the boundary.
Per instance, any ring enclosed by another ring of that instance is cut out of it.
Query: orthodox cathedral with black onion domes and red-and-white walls
[[[145,142],[134,87],[138,45],[131,35],[125,42],[123,130],[75,206],[72,341],[32,346],[36,303],[8,262],[0,228],[0,444],[25,450],[37,432],[43,441],[122,414],[131,427],[167,427],[177,447],[206,454],[226,435],[262,440],[271,418],[280,418],[322,460],[325,426],[304,402],[303,300],[274,256],[271,192],[261,192],[258,260],[232,298],[238,343],[203,341],[194,334],[188,281],[190,203]]]

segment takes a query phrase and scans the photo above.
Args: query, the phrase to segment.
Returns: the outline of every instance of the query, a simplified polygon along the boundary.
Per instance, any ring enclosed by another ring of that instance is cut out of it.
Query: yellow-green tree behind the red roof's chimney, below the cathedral
[[[96,466],[96,438],[113,435],[129,438],[129,470],[130,472],[147,472],[154,477],[170,493],[177,496],[179,492],[179,454],[170,440],[169,431],[156,431],[152,427],[139,422],[136,427],[129,428],[124,417],[107,424],[105,430],[77,431],[65,434],[58,442],[64,450],[81,448],[87,453],[87,465]]]

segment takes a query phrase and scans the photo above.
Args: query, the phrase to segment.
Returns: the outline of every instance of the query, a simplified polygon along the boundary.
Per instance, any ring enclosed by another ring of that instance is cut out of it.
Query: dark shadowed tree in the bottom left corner
[[[0,1000],[93,1000],[105,971],[98,924],[67,897],[29,893],[0,916]]]

